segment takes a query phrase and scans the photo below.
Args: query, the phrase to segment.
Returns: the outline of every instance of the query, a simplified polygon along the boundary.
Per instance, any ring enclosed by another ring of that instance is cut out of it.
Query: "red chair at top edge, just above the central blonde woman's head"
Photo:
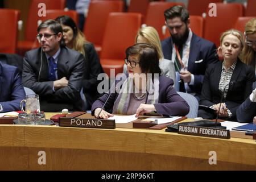
[[[145,18],[147,15],[147,6],[149,5],[150,0],[130,0],[130,5],[128,7],[129,13],[141,13]],[[142,20],[144,22],[144,20]]]

